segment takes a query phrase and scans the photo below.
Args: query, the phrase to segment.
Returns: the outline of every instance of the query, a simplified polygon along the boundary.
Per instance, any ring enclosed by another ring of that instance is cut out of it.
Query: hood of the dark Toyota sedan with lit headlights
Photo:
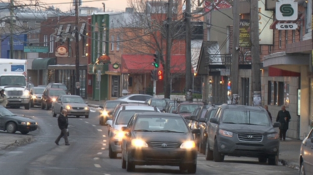
[[[136,138],[141,138],[146,142],[184,142],[193,140],[190,133],[174,133],[174,132],[134,132]]]

